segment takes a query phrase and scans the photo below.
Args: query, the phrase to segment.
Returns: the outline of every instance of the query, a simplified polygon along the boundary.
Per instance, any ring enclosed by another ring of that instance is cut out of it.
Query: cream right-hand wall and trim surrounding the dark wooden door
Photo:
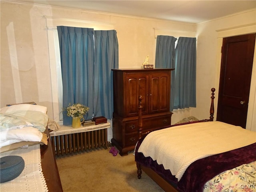
[[[215,114],[218,104],[218,88],[221,64],[222,39],[228,36],[256,32],[256,10],[251,10],[234,16],[212,20],[197,25],[197,108],[191,109],[191,114],[204,118],[209,113],[204,106],[208,105],[206,96],[210,95],[210,89],[216,88],[215,94]],[[256,49],[255,49],[256,50]],[[249,108],[246,129],[256,131],[256,54],[252,70],[252,80],[249,97]],[[208,92],[207,92],[208,91]],[[206,94],[208,93],[208,94]],[[254,111],[253,111],[254,110]],[[215,115],[216,120],[216,115]],[[254,126],[252,126],[254,124]]]

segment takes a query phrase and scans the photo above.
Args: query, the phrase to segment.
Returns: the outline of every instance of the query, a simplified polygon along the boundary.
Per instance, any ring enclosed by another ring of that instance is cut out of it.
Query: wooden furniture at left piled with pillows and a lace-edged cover
[[[28,103],[1,108],[0,157],[19,154],[25,161],[22,173],[14,180],[2,182],[1,191],[63,191],[54,150],[48,141],[46,111],[44,106]],[[30,165],[35,170],[31,171]]]

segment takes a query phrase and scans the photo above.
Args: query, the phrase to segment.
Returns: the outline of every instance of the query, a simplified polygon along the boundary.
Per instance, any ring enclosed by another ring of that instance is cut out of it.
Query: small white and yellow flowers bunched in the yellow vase
[[[73,118],[83,118],[83,116],[88,113],[89,108],[80,103],[72,104],[69,103],[67,108],[64,108],[62,111],[67,112],[67,116],[71,116]]]

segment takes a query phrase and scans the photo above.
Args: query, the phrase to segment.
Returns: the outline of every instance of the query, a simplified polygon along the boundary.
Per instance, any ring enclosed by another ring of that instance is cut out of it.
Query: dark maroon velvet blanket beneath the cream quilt
[[[178,182],[170,170],[165,170],[163,165],[158,165],[152,158],[144,157],[142,153],[138,153],[138,148],[144,138],[145,136],[137,143],[135,161],[143,166],[152,168],[152,170],[157,172],[180,192],[202,192],[204,184],[214,178],[214,176],[242,164],[256,161],[256,143],[254,143],[195,161],[187,168],[181,180]]]

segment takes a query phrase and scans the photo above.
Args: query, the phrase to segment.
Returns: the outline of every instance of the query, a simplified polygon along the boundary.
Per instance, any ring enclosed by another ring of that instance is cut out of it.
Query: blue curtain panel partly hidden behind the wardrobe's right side
[[[156,38],[156,68],[175,68],[175,42],[177,38],[159,35]],[[175,70],[171,75],[170,111],[173,110],[175,94]]]

